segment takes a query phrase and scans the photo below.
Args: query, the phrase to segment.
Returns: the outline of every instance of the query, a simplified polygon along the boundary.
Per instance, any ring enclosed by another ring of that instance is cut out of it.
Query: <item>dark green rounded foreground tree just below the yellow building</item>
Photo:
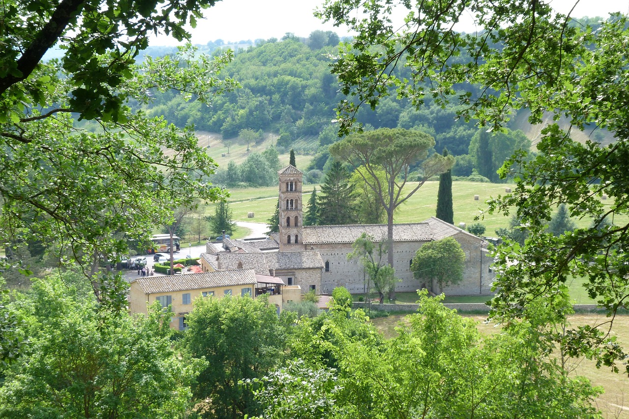
[[[257,411],[252,389],[239,381],[260,378],[281,361],[286,331],[276,307],[264,298],[199,298],[186,321],[184,349],[208,362],[193,388],[202,416],[235,419]]]

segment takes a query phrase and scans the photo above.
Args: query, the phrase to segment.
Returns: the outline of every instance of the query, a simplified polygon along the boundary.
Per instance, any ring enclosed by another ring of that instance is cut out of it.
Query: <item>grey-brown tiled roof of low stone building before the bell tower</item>
[[[253,269],[257,274],[269,275],[283,269],[321,269],[323,260],[317,250],[303,252],[269,252],[218,254],[219,269]]]

